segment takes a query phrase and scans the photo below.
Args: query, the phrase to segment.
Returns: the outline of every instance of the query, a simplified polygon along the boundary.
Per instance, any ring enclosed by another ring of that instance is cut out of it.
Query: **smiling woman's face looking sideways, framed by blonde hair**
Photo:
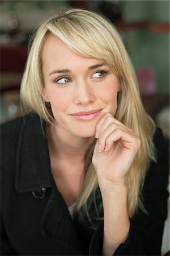
[[[82,57],[50,35],[42,51],[42,72],[44,99],[50,102],[57,129],[94,137],[100,118],[116,113],[118,79],[100,59]]]

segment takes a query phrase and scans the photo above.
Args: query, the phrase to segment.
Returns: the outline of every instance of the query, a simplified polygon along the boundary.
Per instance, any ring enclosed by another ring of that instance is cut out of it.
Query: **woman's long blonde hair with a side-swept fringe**
[[[152,137],[155,125],[143,108],[134,69],[120,35],[106,18],[83,9],[61,10],[42,22],[31,39],[31,49],[21,85],[21,98],[24,106],[35,111],[48,123],[54,120],[50,105],[42,97],[43,76],[41,70],[42,47],[49,34],[58,36],[74,52],[84,57],[95,57],[109,65],[118,77],[121,92],[118,95],[115,117],[132,129],[141,139],[141,148],[126,175],[128,186],[128,212],[132,217],[135,210],[145,210],[142,202],[142,187],[150,160],[155,159]],[[85,209],[88,218],[88,205],[93,201],[97,188],[97,177],[91,158],[94,145],[86,156],[86,174],[82,193],[76,204],[75,213]],[[95,202],[95,200],[94,200]],[[82,207],[83,206],[83,207]],[[102,203],[101,205],[102,206]],[[99,209],[96,205],[96,213]]]

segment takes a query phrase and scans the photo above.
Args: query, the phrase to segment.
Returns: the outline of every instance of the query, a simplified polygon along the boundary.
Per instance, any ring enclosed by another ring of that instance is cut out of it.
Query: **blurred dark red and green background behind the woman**
[[[169,1],[1,1],[1,118],[21,115],[19,89],[29,35],[64,7],[85,7],[117,27],[137,73],[143,104],[169,137]]]

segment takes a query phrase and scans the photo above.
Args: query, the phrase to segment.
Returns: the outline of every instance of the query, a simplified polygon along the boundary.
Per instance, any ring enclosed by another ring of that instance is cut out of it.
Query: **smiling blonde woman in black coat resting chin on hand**
[[[160,255],[168,152],[121,39],[63,10],[37,29],[2,125],[2,255]]]

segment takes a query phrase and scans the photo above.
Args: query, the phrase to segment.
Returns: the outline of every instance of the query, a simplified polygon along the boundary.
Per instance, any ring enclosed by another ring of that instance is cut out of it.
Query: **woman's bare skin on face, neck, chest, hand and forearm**
[[[84,155],[97,138],[92,163],[104,207],[103,255],[112,255],[128,237],[125,176],[140,147],[137,135],[114,118],[118,79],[103,61],[78,55],[52,35],[44,43],[42,73],[43,97],[50,102],[55,118],[54,126],[47,129],[52,174],[67,205],[79,195]],[[93,119],[71,115],[95,109],[101,111]]]

